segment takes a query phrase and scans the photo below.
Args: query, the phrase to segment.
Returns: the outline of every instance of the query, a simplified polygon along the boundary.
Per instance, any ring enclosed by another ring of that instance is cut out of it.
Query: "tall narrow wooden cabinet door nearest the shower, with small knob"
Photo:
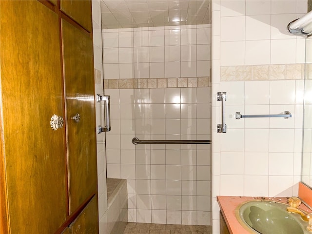
[[[93,42],[62,20],[70,214],[97,191]],[[71,117],[80,114],[77,123]]]

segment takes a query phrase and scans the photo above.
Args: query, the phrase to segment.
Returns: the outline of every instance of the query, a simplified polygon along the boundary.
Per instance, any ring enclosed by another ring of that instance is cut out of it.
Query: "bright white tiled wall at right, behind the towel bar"
[[[296,174],[300,174],[300,163],[293,162],[301,154],[301,146],[297,146],[297,142],[301,143],[299,135],[302,132],[302,80],[220,82],[219,77],[220,66],[303,63],[303,40],[289,35],[285,28],[290,21],[306,12],[305,0],[213,1],[211,49],[214,234],[219,233],[217,195],[297,194]],[[230,27],[229,22],[235,23]],[[239,32],[238,35],[233,31]],[[277,70],[274,72],[278,78]],[[221,135],[215,130],[221,112],[220,103],[215,101],[215,93],[220,91],[227,92],[228,126],[228,132]],[[289,119],[236,120],[234,117],[236,111],[246,114],[279,114],[288,109],[293,113]]]

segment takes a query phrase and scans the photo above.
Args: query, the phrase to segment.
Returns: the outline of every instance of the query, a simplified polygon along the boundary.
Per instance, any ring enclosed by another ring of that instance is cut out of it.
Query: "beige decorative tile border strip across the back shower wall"
[[[105,89],[210,87],[209,77],[104,79]]]

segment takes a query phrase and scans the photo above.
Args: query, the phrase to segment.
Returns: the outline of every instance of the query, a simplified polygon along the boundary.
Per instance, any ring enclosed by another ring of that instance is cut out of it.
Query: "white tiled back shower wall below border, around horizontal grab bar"
[[[106,147],[107,175],[131,181],[129,221],[211,224],[209,146],[137,145],[134,149],[132,143],[125,146],[120,140],[125,135],[129,142],[135,136],[183,139],[180,134],[209,139],[210,88],[107,89],[105,93],[114,103],[127,103],[111,113],[116,130],[107,133]]]

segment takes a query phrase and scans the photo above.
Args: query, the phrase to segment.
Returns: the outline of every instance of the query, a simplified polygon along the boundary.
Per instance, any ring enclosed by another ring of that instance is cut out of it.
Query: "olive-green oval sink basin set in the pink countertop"
[[[312,234],[308,222],[299,214],[288,213],[286,204],[273,201],[250,201],[238,207],[237,219],[258,234]]]

